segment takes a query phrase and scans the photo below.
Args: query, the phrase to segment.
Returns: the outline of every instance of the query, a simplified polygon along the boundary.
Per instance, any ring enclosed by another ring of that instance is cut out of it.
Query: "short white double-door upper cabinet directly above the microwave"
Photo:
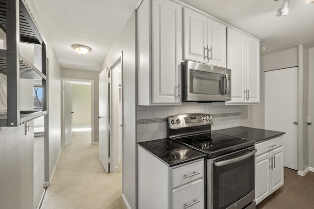
[[[226,67],[226,26],[184,8],[183,58]]]

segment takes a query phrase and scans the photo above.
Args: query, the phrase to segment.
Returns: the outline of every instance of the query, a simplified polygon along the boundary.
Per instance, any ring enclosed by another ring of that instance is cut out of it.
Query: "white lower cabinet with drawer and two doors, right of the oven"
[[[263,199],[284,185],[283,137],[256,144],[255,201]]]

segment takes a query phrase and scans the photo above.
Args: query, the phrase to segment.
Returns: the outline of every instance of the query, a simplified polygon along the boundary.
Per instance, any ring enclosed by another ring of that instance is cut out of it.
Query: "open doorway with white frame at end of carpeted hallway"
[[[91,130],[90,143],[94,144],[93,80],[62,78],[61,83],[62,148],[71,143],[74,130]]]

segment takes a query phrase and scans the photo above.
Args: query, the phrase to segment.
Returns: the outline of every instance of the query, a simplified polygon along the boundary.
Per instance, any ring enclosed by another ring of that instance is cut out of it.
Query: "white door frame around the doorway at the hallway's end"
[[[94,80],[76,79],[76,78],[61,78],[61,147],[64,148],[64,99],[63,88],[64,81],[82,81],[91,83],[91,144],[94,145]]]

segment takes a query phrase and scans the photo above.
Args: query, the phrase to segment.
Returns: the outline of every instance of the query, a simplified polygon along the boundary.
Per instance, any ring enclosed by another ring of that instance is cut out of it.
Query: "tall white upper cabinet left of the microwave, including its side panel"
[[[137,10],[138,105],[181,104],[182,8],[144,0]]]

